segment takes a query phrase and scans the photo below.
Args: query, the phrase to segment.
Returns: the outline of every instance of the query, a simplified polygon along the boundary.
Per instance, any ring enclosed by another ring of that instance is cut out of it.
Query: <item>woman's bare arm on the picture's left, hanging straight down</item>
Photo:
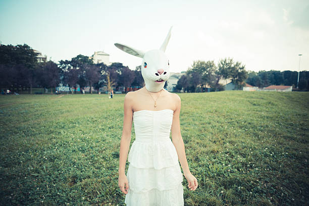
[[[131,142],[131,128],[132,128],[132,93],[128,92],[125,95],[124,99],[124,119],[123,119],[123,129],[122,136],[120,141],[120,151],[119,151],[119,178],[118,178],[118,186],[121,191],[125,194],[128,193],[126,191],[129,188],[128,179],[125,175],[125,167]],[[124,186],[126,185],[126,190]]]

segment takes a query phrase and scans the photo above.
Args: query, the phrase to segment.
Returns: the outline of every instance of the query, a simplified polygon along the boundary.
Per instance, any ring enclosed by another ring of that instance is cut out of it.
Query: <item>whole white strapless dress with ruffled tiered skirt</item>
[[[183,206],[183,176],[170,139],[173,110],[133,113],[135,140],[128,154],[127,206]]]

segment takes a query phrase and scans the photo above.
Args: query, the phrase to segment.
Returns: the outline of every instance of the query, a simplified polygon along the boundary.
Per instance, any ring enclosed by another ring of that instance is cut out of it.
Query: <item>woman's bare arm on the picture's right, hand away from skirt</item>
[[[173,123],[171,127],[171,133],[172,133],[172,142],[176,148],[177,155],[179,162],[181,164],[181,168],[183,170],[183,174],[188,180],[188,187],[191,190],[195,190],[197,188],[197,179],[191,174],[187,158],[186,158],[186,152],[184,148],[183,139],[180,132],[180,108],[181,108],[181,99],[178,96],[178,94],[175,95],[175,102],[176,102],[176,110],[173,114]]]

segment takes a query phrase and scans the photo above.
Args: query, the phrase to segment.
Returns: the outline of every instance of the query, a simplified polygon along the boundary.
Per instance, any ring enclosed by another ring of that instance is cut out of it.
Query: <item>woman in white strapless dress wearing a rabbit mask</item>
[[[179,162],[188,188],[193,191],[197,188],[197,180],[188,167],[180,133],[181,100],[177,94],[164,89],[170,76],[170,63],[165,49],[171,29],[160,49],[146,53],[115,43],[124,52],[143,58],[141,74],[145,82],[144,87],[128,92],[124,98],[118,186],[126,194],[127,206],[184,205],[183,176]],[[128,154],[132,120],[135,140]],[[130,164],[126,176],[127,157]]]

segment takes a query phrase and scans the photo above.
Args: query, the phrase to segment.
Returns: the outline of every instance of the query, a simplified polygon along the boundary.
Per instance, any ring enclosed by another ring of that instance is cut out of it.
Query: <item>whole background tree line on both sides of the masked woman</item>
[[[234,61],[232,58],[214,61],[194,61],[187,72],[182,75],[175,91],[203,92],[207,87],[211,91],[224,90],[221,79],[231,79],[235,89],[241,89],[245,83],[252,86],[266,87],[269,85],[297,85],[295,71],[246,71],[245,65]],[[58,64],[48,61],[38,63],[36,54],[27,44],[1,45],[0,46],[0,88],[12,91],[26,90],[32,93],[32,88],[55,88],[60,83],[68,85],[72,93],[76,93],[76,87],[80,92],[86,86],[99,91],[106,86],[110,91],[112,87],[119,90],[125,88],[142,87],[144,80],[141,75],[141,66],[130,70],[122,63],[112,63],[107,66],[104,63],[94,64],[87,56],[78,55],[71,60],[61,60]],[[167,86],[167,82],[164,87]],[[309,72],[300,72],[299,89],[309,90]],[[126,90],[127,92],[128,90]]]

